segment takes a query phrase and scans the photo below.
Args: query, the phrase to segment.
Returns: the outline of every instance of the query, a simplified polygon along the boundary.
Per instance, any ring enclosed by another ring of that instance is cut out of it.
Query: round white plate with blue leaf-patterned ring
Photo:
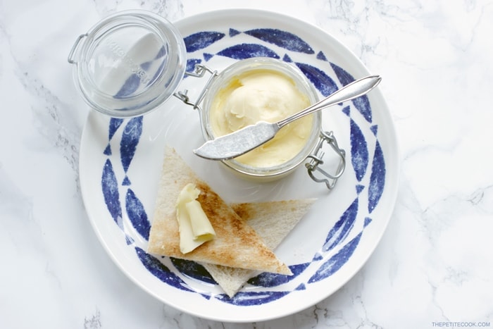
[[[297,63],[320,94],[370,74],[327,33],[277,13],[217,11],[176,25],[187,42],[188,70],[195,62],[222,70],[239,58],[278,56]],[[186,77],[180,89],[197,95],[204,80]],[[137,285],[189,314],[252,322],[306,309],[347,283],[372,254],[394,208],[399,179],[394,126],[380,89],[324,110],[323,128],[334,131],[347,151],[346,171],[332,192],[308,178],[304,166],[258,185],[194,156],[192,149],[203,142],[198,113],[174,97],[144,118],[110,120],[92,111],[82,134],[80,182],[94,231]],[[166,144],[226,201],[318,198],[276,250],[292,267],[291,280],[269,275],[267,287],[253,282],[229,299],[194,263],[180,266],[144,252]]]

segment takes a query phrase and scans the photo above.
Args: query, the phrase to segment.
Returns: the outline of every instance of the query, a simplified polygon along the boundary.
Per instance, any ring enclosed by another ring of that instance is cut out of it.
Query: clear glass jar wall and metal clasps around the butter
[[[256,57],[238,61],[225,68],[221,73],[218,73],[217,70],[213,70],[203,64],[196,64],[195,70],[193,72],[187,72],[187,75],[201,78],[204,77],[206,73],[211,74],[211,77],[208,78],[204,88],[196,98],[196,101],[190,100],[190,96],[186,89],[176,92],[175,96],[185,104],[193,106],[194,109],[199,111],[202,135],[206,141],[215,138],[211,125],[211,106],[213,104],[213,99],[221,89],[230,85],[232,80],[235,80],[236,77],[248,73],[251,70],[273,70],[276,73],[285,75],[294,82],[294,85],[299,92],[308,97],[310,104],[314,104],[318,101],[316,89],[311,85],[311,82],[308,81],[301,70],[292,63],[286,63],[274,58]],[[299,111],[302,109],[303,108],[300,108]],[[276,166],[266,167],[249,166],[237,159],[223,160],[221,162],[226,168],[237,174],[239,178],[257,182],[269,182],[289,175],[305,161],[308,176],[315,182],[324,183],[327,189],[332,190],[346,168],[346,152],[339,147],[337,139],[332,132],[322,130],[321,111],[312,113],[311,116],[313,120],[309,137],[306,139],[306,143],[301,150],[297,154],[294,154],[290,159],[287,159]],[[323,158],[326,154],[324,148],[325,144],[328,144],[335,153],[337,159],[335,172],[329,172],[320,166],[324,164]]]

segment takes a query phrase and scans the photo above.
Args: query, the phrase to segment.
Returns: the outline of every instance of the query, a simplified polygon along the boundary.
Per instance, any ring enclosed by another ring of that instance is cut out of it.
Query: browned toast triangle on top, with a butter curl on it
[[[177,196],[185,185],[194,183],[201,190],[197,199],[211,221],[216,238],[192,252],[180,252],[180,232],[175,213]],[[292,274],[263,243],[255,230],[211,190],[174,149],[166,148],[156,206],[149,234],[150,254],[213,263],[232,268]]]

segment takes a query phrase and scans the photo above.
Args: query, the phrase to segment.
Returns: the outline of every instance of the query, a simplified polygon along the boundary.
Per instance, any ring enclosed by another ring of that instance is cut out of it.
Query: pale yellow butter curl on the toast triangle
[[[190,183],[183,187],[176,202],[176,219],[180,226],[180,252],[192,252],[204,242],[213,240],[216,232],[196,201],[200,190]]]

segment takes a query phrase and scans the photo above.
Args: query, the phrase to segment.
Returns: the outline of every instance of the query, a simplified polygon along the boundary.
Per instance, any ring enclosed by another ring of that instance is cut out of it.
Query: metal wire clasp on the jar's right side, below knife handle
[[[324,164],[323,157],[325,156],[325,151],[323,151],[323,144],[326,142],[332,147],[332,150],[339,157],[339,163],[337,164],[337,168],[334,174],[328,173],[323,168],[320,168],[320,165]],[[337,144],[337,139],[334,136],[334,133],[320,131],[320,139],[318,144],[314,148],[313,154],[307,156],[306,159],[310,159],[307,163],[305,163],[305,167],[308,170],[308,175],[310,178],[316,182],[324,182],[327,189],[332,190],[337,183],[337,180],[344,173],[344,169],[346,168],[346,151],[341,149]],[[315,171],[322,174],[322,178],[318,178],[315,175]]]

